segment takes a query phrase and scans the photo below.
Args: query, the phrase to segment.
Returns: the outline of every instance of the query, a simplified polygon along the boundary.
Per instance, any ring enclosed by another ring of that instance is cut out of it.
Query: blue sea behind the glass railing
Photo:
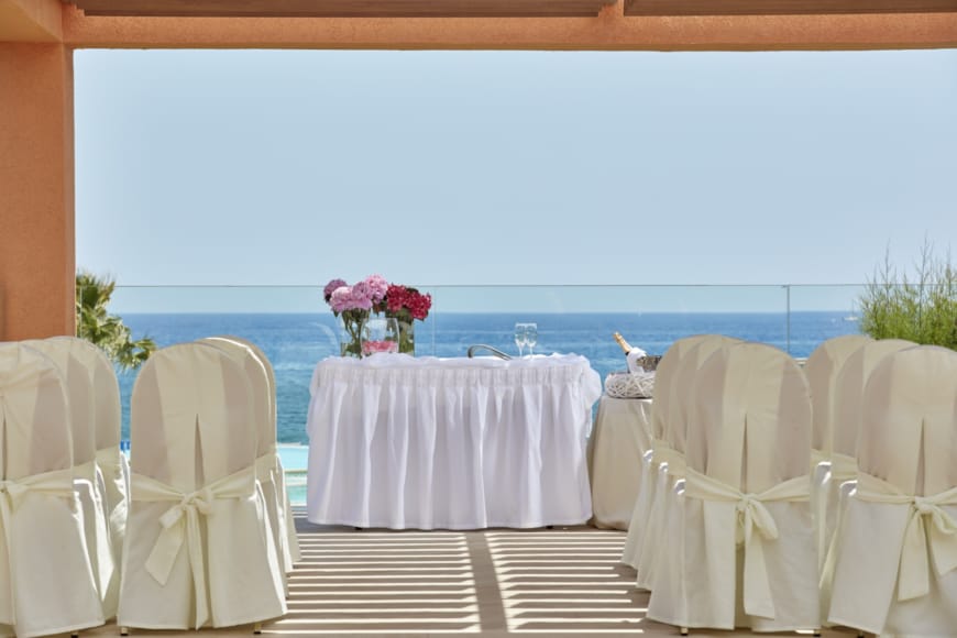
[[[276,372],[278,440],[306,443],[309,381],[316,364],[339,354],[337,320],[322,314],[151,314],[123,315],[136,339],[150,337],[165,346],[204,337],[233,334],[255,342]],[[485,343],[516,354],[513,328],[538,323],[536,353],[586,356],[602,378],[625,369],[625,356],[612,334],[631,345],[662,354],[676,339],[719,333],[776,345],[795,358],[807,356],[821,342],[858,331],[843,312],[645,312],[645,314],[451,314],[416,324],[416,354],[464,356],[470,345]],[[129,438],[130,393],[135,373],[120,375],[123,438]]]

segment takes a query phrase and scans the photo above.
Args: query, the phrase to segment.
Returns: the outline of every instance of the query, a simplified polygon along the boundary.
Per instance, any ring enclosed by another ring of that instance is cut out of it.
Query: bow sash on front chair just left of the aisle
[[[187,560],[193,572],[193,584],[196,593],[196,628],[199,629],[209,619],[206,561],[199,515],[211,515],[213,503],[217,499],[252,496],[255,491],[255,466],[250,465],[188,494],[135,472],[131,474],[130,479],[132,501],[175,503],[160,517],[160,525],[163,529],[153,546],[153,551],[146,559],[145,566],[156,582],[165,585],[179,550],[184,543],[186,544]]]

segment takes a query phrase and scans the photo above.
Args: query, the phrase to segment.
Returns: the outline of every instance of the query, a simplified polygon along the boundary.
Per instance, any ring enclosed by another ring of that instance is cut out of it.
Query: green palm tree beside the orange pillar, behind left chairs
[[[77,337],[100,346],[121,370],[136,370],[156,350],[152,339],[133,341],[130,328],[107,305],[117,283],[86,271],[76,275]]]

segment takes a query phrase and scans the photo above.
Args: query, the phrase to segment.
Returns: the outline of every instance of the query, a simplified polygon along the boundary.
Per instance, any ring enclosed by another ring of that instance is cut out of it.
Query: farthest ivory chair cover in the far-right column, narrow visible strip
[[[847,359],[871,341],[864,334],[845,334],[818,345],[804,364],[811,388],[811,507],[817,527],[817,551],[823,562],[833,528],[828,528],[827,504],[831,486],[831,452],[834,438],[835,386]]]

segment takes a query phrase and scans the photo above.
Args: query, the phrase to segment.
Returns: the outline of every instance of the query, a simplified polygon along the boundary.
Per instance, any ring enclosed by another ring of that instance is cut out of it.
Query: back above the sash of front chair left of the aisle
[[[252,395],[242,364],[218,348],[154,352],[133,386],[131,470],[190,493],[249,468],[257,446]]]

